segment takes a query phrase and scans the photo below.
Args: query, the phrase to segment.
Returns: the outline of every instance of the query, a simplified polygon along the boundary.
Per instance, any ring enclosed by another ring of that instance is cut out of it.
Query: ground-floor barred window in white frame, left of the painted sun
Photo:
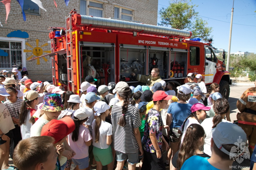
[[[0,41],[0,50],[4,51],[4,56],[0,56],[1,68],[22,67],[22,42]]]

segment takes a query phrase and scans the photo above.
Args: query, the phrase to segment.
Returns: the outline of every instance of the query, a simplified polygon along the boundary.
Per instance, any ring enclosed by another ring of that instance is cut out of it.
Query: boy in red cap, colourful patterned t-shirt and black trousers
[[[168,96],[164,91],[156,91],[153,95],[154,107],[148,111],[142,146],[144,149],[144,160],[141,170],[165,170],[162,156],[162,142],[164,149],[168,151],[169,144],[162,138],[163,121],[160,109],[164,109],[172,96]],[[166,126],[165,128],[168,128]]]

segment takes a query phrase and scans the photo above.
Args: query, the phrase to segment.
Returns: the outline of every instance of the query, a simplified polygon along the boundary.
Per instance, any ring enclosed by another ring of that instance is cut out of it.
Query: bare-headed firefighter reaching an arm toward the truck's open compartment
[[[159,76],[160,70],[159,68],[153,68],[151,71],[151,75],[142,75],[132,73],[131,75],[135,76],[137,81],[141,83],[145,83],[147,86],[152,87],[156,82],[161,81],[161,77]]]

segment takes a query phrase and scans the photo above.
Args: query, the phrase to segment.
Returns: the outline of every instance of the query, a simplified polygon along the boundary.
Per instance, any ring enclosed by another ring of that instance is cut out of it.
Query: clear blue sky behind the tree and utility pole
[[[231,9],[233,0],[191,0],[198,5],[195,10],[212,27],[215,48],[228,51]],[[158,12],[167,8],[169,0],[158,0]],[[233,25],[230,53],[237,51],[256,53],[256,0],[234,0]],[[161,18],[158,14],[157,22]],[[225,21],[225,22],[223,22]],[[240,25],[238,25],[240,24]],[[249,26],[251,25],[251,26]]]

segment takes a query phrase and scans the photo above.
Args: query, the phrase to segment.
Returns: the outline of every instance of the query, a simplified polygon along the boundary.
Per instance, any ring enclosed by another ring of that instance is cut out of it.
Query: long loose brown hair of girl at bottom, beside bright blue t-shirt
[[[183,163],[193,155],[196,155],[198,140],[204,137],[204,128],[200,124],[190,124],[181,144],[177,159],[177,168],[180,169]]]

